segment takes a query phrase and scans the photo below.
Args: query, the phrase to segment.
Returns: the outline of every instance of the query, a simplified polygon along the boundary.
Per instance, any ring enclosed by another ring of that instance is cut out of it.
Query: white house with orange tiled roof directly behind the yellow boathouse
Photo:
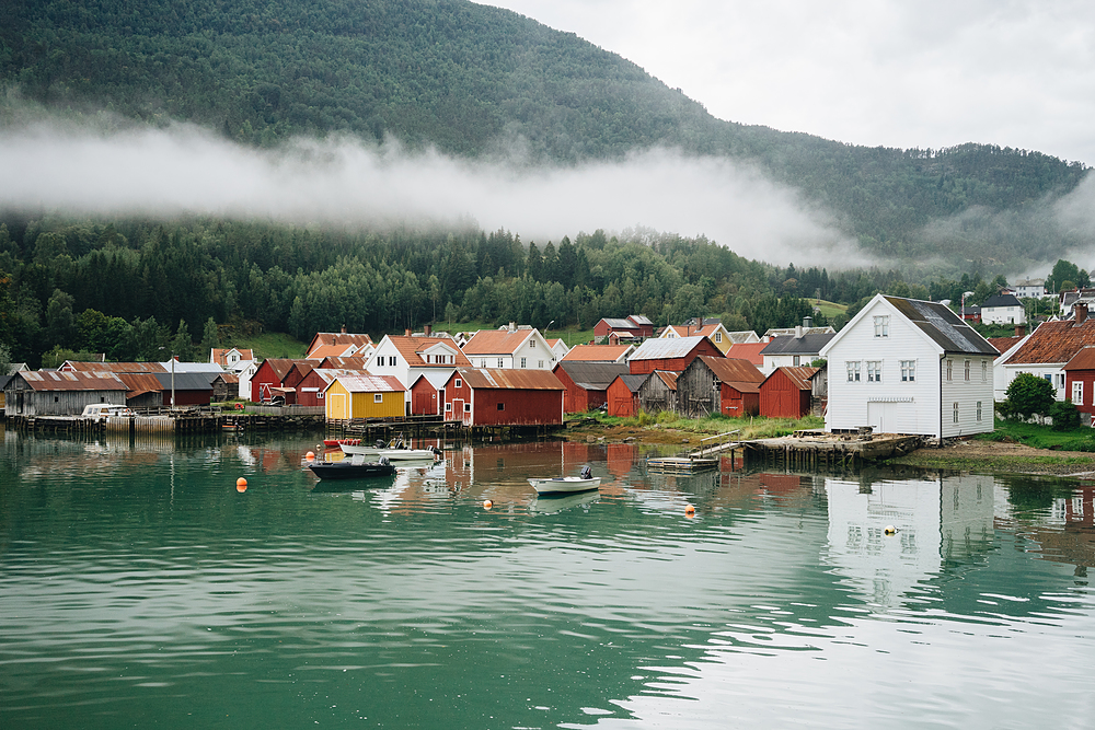
[[[414,335],[385,335],[377,345],[366,370],[377,375],[394,375],[404,389],[414,385],[425,375],[435,391],[440,391],[457,368],[471,368],[471,360],[457,347],[451,337],[417,337]],[[411,391],[405,390],[407,413],[411,412]],[[443,403],[440,397],[438,403]]]

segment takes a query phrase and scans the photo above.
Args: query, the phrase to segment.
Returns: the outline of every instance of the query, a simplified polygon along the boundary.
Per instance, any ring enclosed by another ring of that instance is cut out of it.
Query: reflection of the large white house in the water
[[[822,556],[869,603],[898,605],[943,561],[988,549],[994,482],[965,475],[875,482],[827,479],[829,541]],[[887,526],[897,528],[894,535]]]

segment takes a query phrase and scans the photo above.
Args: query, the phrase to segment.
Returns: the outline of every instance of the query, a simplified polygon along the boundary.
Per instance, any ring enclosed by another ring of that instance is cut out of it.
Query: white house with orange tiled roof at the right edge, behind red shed
[[[1006,397],[1007,386],[1021,372],[1045,378],[1052,383],[1058,401],[1069,391],[1064,366],[1088,345],[1095,345],[1095,320],[1087,315],[1087,304],[1077,302],[1070,320],[1042,322],[1018,346],[996,360],[1000,369],[995,395]]]

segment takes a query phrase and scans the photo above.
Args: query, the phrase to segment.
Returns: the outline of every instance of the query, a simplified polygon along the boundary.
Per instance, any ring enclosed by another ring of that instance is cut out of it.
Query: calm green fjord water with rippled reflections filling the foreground
[[[314,443],[8,432],[0,727],[1090,727],[1092,487]]]

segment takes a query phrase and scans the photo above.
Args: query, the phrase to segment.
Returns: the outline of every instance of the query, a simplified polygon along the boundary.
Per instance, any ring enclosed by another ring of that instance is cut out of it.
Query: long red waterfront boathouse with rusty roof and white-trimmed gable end
[[[563,425],[566,389],[548,370],[457,368],[441,391],[446,420],[464,426]]]

